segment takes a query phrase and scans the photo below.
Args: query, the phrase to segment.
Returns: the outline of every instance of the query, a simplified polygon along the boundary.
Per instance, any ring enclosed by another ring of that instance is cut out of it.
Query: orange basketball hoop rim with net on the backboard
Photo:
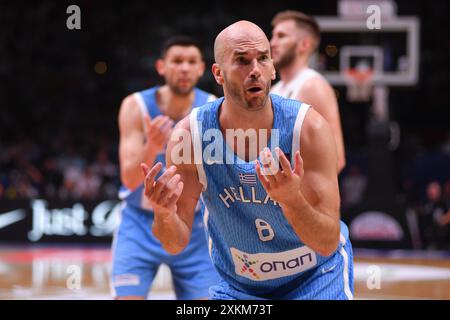
[[[345,71],[347,99],[351,102],[367,102],[372,96],[373,69],[351,68]]]

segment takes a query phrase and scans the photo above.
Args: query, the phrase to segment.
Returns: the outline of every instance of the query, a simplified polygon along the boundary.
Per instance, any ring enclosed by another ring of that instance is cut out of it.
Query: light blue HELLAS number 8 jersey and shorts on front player
[[[278,146],[290,157],[300,150],[301,126],[310,106],[276,95],[270,98],[273,129],[278,131],[272,130],[268,147],[274,152]],[[299,240],[280,205],[267,195],[253,162],[238,158],[223,136],[216,137],[222,145],[222,161],[218,161],[217,154],[211,152],[208,158],[209,153],[204,152],[211,148],[208,130],[220,130],[218,114],[222,102],[223,98],[197,108],[190,116],[194,151],[197,156],[205,153],[206,157],[201,163],[196,162],[203,185],[209,251],[225,280],[213,290],[211,298],[350,299],[352,257],[347,226],[341,222],[341,243],[336,253],[330,257],[319,255]],[[234,164],[226,164],[230,156]],[[330,268],[329,264],[333,266],[335,262],[333,268],[325,270],[327,277],[319,276],[323,268]],[[339,275],[331,277],[329,272],[333,269]],[[336,276],[342,279],[329,285]]]

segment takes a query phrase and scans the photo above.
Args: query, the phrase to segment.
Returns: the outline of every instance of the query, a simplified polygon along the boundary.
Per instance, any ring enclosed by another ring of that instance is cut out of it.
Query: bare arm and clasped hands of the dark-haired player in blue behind
[[[173,121],[166,116],[144,116],[134,95],[126,97],[119,111],[119,162],[124,185],[134,190],[142,183],[140,163],[151,164],[163,150]]]

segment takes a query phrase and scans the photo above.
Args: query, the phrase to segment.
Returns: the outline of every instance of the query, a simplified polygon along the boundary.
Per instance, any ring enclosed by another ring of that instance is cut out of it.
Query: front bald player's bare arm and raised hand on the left
[[[177,124],[174,133],[177,130],[189,132],[189,117]],[[190,163],[173,165],[172,152],[179,141],[172,140],[171,138],[166,150],[168,169],[156,182],[154,182],[154,177],[161,169],[161,165],[157,164],[151,170],[148,170],[146,166],[143,167],[144,173],[146,173],[145,196],[155,212],[153,234],[167,252],[177,254],[189,243],[195,207],[200,198],[202,185],[194,164],[190,135],[189,142],[183,144],[183,146],[191,148]],[[187,150],[183,149],[183,152],[187,152]]]

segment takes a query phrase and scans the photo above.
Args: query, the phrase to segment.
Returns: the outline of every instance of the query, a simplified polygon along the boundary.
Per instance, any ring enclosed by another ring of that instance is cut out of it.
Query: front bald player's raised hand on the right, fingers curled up
[[[255,160],[256,174],[271,199],[280,204],[295,204],[304,175],[303,159],[300,152],[297,151],[294,155],[294,169],[292,169],[283,151],[276,148],[275,152],[277,152],[281,170],[275,166],[276,161],[270,150],[264,148],[260,153],[263,169],[261,169],[259,161]]]

